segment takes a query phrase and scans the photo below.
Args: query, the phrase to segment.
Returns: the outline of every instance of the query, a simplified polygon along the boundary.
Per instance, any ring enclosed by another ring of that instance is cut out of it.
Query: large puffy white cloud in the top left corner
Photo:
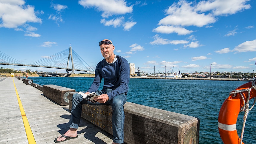
[[[0,1],[0,27],[18,28],[25,23],[42,23],[34,7],[25,5],[23,0]]]

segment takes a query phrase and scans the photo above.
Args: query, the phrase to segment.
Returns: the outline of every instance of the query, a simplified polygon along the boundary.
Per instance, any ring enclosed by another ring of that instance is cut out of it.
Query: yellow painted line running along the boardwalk
[[[16,95],[17,95],[17,99],[18,99],[18,103],[19,103],[19,107],[20,107],[20,113],[21,113],[22,120],[23,120],[23,123],[24,123],[25,131],[26,131],[27,138],[28,138],[28,142],[29,142],[29,144],[36,144],[36,140],[34,138],[32,130],[29,126],[29,121],[27,119],[26,113],[25,113],[24,108],[22,106],[22,103],[20,101],[20,96],[18,94],[18,91],[17,91],[17,88],[15,86],[13,78],[12,78],[12,81],[13,81],[14,88],[15,88],[15,91],[16,91]]]

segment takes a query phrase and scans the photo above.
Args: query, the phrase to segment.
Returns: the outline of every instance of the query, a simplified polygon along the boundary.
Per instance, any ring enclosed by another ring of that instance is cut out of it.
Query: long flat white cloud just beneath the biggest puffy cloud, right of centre
[[[186,34],[191,34],[193,31],[189,31],[179,26],[159,26],[153,29],[153,32],[162,33],[162,34],[177,33],[178,35],[186,35]]]

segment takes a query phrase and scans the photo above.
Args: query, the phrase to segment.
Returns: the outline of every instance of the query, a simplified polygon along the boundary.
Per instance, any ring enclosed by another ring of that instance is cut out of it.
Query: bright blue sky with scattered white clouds
[[[255,0],[0,0],[0,51],[23,64],[72,46],[95,69],[110,39],[143,72],[252,73],[255,29]]]

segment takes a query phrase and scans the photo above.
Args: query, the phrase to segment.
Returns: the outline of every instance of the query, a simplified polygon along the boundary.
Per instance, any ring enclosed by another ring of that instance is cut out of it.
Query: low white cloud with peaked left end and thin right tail
[[[178,45],[178,44],[187,44],[189,42],[189,41],[186,41],[186,40],[162,39],[161,37],[159,37],[158,34],[156,34],[153,38],[155,40],[153,42],[150,42],[151,45],[167,45],[167,44]]]

